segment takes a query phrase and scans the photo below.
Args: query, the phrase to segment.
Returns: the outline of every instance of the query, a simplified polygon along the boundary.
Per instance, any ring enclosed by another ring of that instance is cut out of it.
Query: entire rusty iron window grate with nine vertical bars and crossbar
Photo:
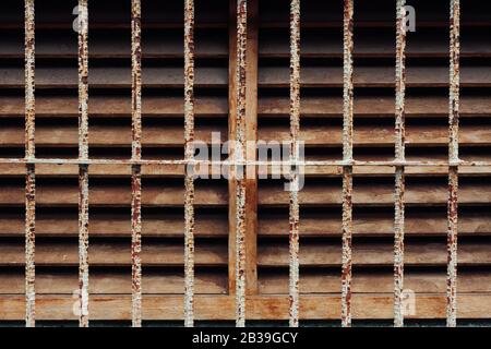
[[[132,324],[142,325],[142,166],[184,165],[184,324],[194,324],[194,177],[199,165],[230,165],[236,180],[235,299],[236,324],[246,325],[246,166],[287,165],[292,173],[289,196],[289,324],[298,326],[299,297],[299,197],[298,168],[343,168],[343,266],[340,318],[343,326],[351,325],[351,238],[352,238],[352,169],[354,166],[395,168],[394,212],[394,326],[404,325],[404,233],[405,233],[405,169],[407,167],[448,168],[447,202],[447,326],[456,325],[457,309],[457,192],[459,166],[484,167],[487,161],[463,161],[458,157],[459,116],[459,0],[450,0],[450,112],[448,160],[408,161],[405,158],[405,88],[406,88],[406,11],[405,0],[397,3],[395,159],[360,161],[352,155],[354,132],[354,0],[344,0],[344,117],[343,160],[299,159],[300,129],[300,0],[290,3],[290,153],[289,161],[275,164],[251,161],[246,157],[248,1],[237,1],[237,89],[236,130],[231,161],[200,161],[194,159],[194,1],[184,0],[184,158],[180,160],[142,159],[142,21],[141,0],[132,0],[132,155],[129,160],[93,159],[88,156],[88,5],[79,1],[79,158],[57,159],[35,156],[35,9],[34,0],[25,0],[25,157],[0,158],[0,164],[25,164],[25,298],[26,326],[35,325],[35,169],[38,164],[71,164],[79,166],[79,258],[80,258],[80,326],[88,326],[88,168],[92,165],[129,165],[132,168],[131,231],[132,231]],[[218,311],[218,310],[217,310]]]

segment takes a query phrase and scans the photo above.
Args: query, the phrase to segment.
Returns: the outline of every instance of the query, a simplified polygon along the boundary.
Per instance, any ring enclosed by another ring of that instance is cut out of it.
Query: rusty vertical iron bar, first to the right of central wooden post
[[[300,0],[290,3],[290,161],[299,160],[300,132]],[[289,203],[289,325],[299,321],[299,220],[298,169],[290,169]]]

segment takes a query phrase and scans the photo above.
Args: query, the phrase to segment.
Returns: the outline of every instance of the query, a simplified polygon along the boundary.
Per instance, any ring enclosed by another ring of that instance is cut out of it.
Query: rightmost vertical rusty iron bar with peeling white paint
[[[450,113],[448,113],[448,161],[458,161],[458,116],[460,89],[460,1],[451,0],[450,34]],[[448,169],[448,231],[447,231],[447,280],[446,325],[457,325],[457,232],[458,167]]]

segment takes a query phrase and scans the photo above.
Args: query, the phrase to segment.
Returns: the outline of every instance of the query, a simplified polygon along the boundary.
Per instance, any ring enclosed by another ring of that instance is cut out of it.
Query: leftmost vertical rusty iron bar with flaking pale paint
[[[35,21],[34,0],[25,0],[25,157],[35,158]],[[25,325],[36,324],[35,237],[36,177],[35,165],[26,165],[25,174]]]

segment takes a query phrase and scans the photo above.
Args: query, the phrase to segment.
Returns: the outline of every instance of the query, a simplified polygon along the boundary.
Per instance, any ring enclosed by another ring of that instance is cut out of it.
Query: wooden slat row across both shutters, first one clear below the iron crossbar
[[[72,180],[71,185],[51,182],[38,182],[36,203],[40,206],[73,206],[79,203],[79,190]],[[20,181],[2,182],[0,205],[24,205],[24,188]],[[92,182],[89,203],[93,206],[128,206],[131,202],[131,188],[108,181]],[[357,182],[354,184],[352,202],[359,206],[388,206],[394,204],[394,184],[392,179],[383,182]],[[405,202],[410,206],[444,205],[447,188],[444,180],[407,183]],[[310,182],[299,192],[303,206],[339,205],[342,203],[340,182],[323,180]],[[488,205],[491,202],[490,184],[487,181],[460,181],[459,204]],[[199,206],[226,205],[228,200],[226,185],[218,181],[199,182],[195,203]],[[144,206],[182,206],[183,185],[181,182],[143,182],[142,204]],[[259,204],[264,206],[284,206],[288,204],[288,192],[280,182],[266,184],[260,182]]]

